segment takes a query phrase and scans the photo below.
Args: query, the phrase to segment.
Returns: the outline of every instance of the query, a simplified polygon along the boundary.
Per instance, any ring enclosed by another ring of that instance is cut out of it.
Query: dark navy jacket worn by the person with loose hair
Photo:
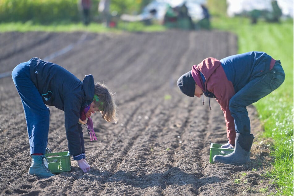
[[[75,160],[83,158],[85,152],[82,127],[78,124],[80,111],[92,103],[94,79],[87,75],[83,81],[63,67],[32,58],[30,64],[31,80],[43,97],[46,105],[64,111],[68,149]]]

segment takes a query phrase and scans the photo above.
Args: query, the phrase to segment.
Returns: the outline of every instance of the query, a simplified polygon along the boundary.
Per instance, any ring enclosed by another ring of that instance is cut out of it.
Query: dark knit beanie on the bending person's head
[[[177,82],[181,92],[189,97],[194,97],[195,94],[195,80],[192,77],[191,71],[182,75]]]

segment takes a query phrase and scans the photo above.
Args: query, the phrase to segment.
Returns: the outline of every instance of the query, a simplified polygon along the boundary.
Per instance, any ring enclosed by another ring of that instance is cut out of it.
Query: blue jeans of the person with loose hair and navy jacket
[[[14,68],[11,76],[23,104],[31,154],[45,154],[50,110],[44,104],[38,89],[31,80],[30,62],[20,63]]]

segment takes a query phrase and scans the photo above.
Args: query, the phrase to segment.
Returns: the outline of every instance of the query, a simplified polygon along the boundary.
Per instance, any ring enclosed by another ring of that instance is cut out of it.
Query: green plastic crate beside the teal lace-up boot
[[[54,152],[45,154],[48,160],[48,169],[53,174],[68,172],[71,170],[70,152]]]

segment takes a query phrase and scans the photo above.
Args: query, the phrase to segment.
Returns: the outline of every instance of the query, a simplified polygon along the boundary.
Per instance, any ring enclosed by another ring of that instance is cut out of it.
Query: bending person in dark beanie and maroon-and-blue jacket
[[[237,54],[221,60],[206,58],[178,79],[177,85],[185,95],[202,96],[202,100],[203,94],[215,98],[224,112],[228,143],[221,148],[234,151],[223,153],[228,154],[225,156],[215,155],[215,163],[250,161],[254,136],[250,133],[246,107],[277,89],[284,79],[281,62],[264,52]]]

